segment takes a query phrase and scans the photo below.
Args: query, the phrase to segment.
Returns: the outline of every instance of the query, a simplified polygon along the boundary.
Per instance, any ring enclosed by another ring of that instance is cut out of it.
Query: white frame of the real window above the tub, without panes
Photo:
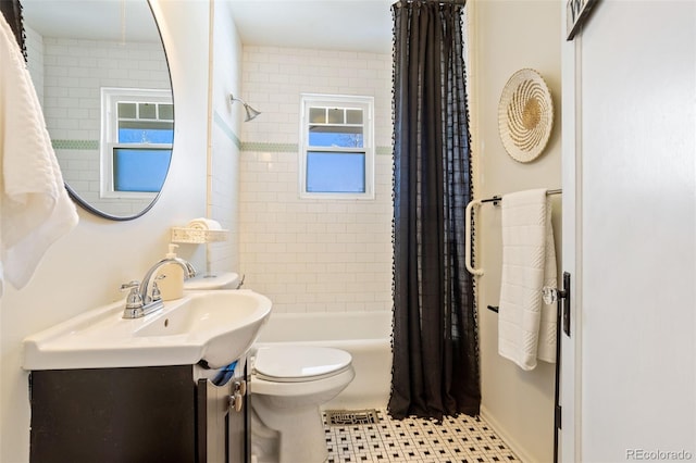
[[[362,149],[340,147],[312,147],[309,145],[310,108],[360,109],[363,111],[363,147]],[[300,199],[338,199],[338,200],[373,200],[374,199],[374,97],[348,95],[301,93],[300,98],[300,137],[299,137],[299,197]],[[364,152],[364,192],[316,192],[307,190],[308,152],[323,151],[330,153]]]

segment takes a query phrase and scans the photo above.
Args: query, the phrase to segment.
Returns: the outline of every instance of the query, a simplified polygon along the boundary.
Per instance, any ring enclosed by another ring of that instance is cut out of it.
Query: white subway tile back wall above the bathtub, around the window
[[[245,47],[240,268],[276,312],[391,309],[391,55]],[[375,199],[299,199],[300,93],[375,100]]]

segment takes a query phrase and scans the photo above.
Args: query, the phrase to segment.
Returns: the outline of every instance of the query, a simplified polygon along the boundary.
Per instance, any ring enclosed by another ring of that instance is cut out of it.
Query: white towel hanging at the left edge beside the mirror
[[[0,15],[0,296],[77,224],[24,58]]]

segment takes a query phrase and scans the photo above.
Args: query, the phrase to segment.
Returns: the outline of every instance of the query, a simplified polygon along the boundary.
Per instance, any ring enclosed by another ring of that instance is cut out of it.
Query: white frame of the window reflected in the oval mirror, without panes
[[[173,104],[170,89],[101,87],[101,137],[99,143],[99,196],[110,199],[149,199],[153,200],[159,191],[119,191],[114,182],[114,157],[116,149],[173,150],[174,143],[119,143],[117,104],[123,101],[136,103]],[[167,121],[156,118],[152,121]],[[172,118],[172,127],[174,120]],[[170,159],[171,165],[171,159]],[[166,174],[164,176],[166,178]]]

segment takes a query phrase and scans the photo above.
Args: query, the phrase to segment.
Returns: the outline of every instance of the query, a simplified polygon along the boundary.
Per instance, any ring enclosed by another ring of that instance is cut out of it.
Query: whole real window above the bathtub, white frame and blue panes
[[[374,198],[374,98],[302,95],[300,198]]]

